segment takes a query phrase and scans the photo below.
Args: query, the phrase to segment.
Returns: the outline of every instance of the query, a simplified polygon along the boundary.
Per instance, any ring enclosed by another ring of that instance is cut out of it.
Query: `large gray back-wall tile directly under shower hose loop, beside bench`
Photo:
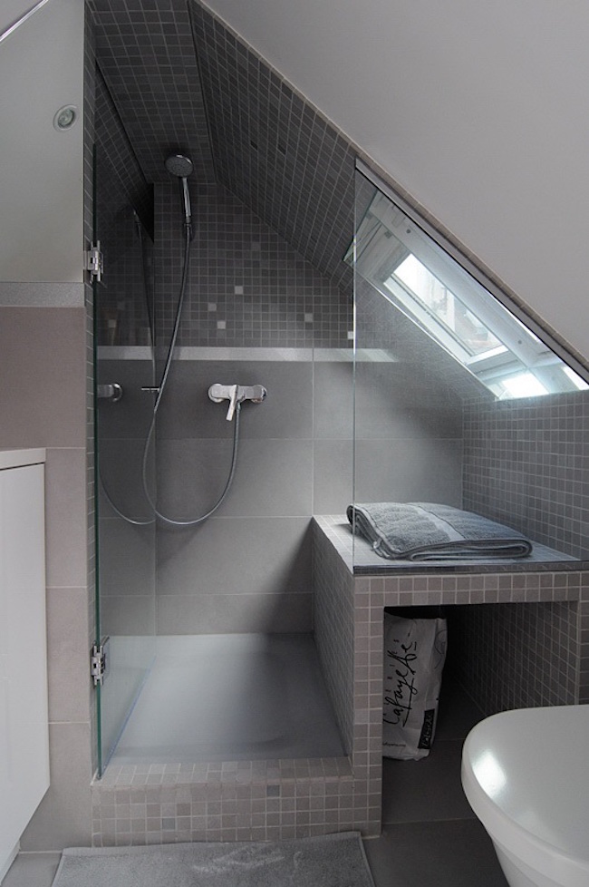
[[[162,531],[159,599],[308,591],[310,537],[308,518],[211,518],[197,530]]]

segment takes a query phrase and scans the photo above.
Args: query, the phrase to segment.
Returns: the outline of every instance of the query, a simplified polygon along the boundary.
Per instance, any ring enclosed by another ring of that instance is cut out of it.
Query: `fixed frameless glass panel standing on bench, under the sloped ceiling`
[[[568,366],[376,181],[356,173],[356,237],[346,256],[356,515],[385,503],[379,521],[390,519],[394,535],[398,504],[450,506],[524,534],[529,563],[584,558],[575,502],[584,470],[575,442],[589,397],[583,369]],[[410,551],[383,556],[379,530],[354,535],[354,569],[410,567]]]

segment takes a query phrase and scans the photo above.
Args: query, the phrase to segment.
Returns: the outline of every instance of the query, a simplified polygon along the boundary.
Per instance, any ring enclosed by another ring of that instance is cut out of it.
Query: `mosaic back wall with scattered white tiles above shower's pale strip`
[[[195,237],[179,346],[349,347],[352,300],[222,185],[192,178]],[[169,340],[184,234],[178,188],[157,186],[158,340]]]

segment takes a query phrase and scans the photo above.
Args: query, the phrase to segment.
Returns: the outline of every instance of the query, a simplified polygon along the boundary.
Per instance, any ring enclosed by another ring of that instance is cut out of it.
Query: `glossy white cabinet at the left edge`
[[[0,451],[0,880],[49,787],[44,469],[19,464],[44,451],[23,452]]]

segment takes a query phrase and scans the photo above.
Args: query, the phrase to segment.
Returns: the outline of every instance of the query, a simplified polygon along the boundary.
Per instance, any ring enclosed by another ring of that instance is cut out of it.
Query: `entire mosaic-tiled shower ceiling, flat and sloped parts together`
[[[219,181],[343,291],[354,152],[196,0],[89,0],[101,73],[150,182],[171,151]]]

